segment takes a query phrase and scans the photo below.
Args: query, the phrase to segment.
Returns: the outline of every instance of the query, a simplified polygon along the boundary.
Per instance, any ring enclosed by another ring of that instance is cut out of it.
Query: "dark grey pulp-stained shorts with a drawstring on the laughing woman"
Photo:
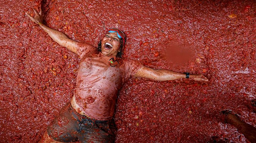
[[[69,104],[64,106],[47,128],[50,138],[60,142],[109,143],[114,142],[116,131],[114,120],[93,120],[78,114]]]

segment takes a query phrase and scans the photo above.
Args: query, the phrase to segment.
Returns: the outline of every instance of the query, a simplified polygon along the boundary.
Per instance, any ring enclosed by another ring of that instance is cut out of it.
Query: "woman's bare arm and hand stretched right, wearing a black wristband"
[[[169,70],[155,70],[146,66],[140,68],[140,70],[134,75],[134,77],[150,78],[157,81],[175,80],[180,78],[186,78],[186,74],[173,72]],[[193,77],[195,81],[208,81],[208,79],[202,74],[189,75],[189,78]]]

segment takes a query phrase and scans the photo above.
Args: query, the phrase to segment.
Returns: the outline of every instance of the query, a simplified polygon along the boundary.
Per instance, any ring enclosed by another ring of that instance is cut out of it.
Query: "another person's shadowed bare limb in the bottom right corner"
[[[247,140],[249,140],[251,143],[256,143],[256,128],[252,125],[249,125],[247,123],[244,123],[241,121],[236,115],[228,112],[223,111],[226,116],[226,122],[229,124],[234,125],[244,136]]]

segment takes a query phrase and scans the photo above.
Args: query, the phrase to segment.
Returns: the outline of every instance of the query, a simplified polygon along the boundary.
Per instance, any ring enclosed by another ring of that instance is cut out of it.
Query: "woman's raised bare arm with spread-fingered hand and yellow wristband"
[[[44,31],[48,33],[48,35],[58,44],[60,44],[63,47],[66,47],[73,53],[77,54],[77,46],[78,42],[69,39],[64,33],[51,29],[47,26],[45,26],[43,21],[43,15],[42,15],[42,9],[40,8],[40,12],[38,13],[35,9],[33,9],[35,16],[32,17],[30,14],[26,13],[26,15],[36,24],[38,24]]]

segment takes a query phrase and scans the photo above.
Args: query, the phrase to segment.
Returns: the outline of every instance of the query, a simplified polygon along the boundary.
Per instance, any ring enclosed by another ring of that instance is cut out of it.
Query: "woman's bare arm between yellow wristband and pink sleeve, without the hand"
[[[77,43],[74,40],[69,39],[64,33],[51,29],[48,26],[41,24],[40,27],[48,33],[48,35],[58,44],[67,49],[71,50],[73,53],[77,54],[76,46]]]

